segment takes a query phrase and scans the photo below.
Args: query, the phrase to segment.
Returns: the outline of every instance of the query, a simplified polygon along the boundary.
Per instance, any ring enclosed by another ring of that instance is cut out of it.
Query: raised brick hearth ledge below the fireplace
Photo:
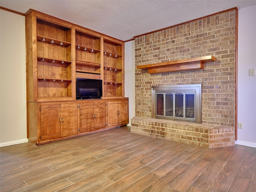
[[[132,133],[194,144],[206,148],[232,146],[235,144],[234,127],[138,116],[132,118],[131,124]]]

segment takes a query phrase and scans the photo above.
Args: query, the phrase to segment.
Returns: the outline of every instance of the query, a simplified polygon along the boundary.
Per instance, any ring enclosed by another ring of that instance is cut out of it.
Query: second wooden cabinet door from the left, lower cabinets
[[[61,105],[61,136],[72,136],[78,134],[77,104]]]

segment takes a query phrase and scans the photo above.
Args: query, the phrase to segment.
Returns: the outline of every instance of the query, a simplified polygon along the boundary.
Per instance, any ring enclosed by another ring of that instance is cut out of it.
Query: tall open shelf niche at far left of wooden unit
[[[38,98],[71,98],[71,28],[37,18],[36,40]]]

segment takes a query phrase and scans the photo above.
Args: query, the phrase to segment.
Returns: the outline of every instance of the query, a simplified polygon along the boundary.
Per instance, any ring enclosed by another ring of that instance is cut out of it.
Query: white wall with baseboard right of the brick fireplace
[[[238,10],[238,129],[236,144],[256,147],[256,5]]]

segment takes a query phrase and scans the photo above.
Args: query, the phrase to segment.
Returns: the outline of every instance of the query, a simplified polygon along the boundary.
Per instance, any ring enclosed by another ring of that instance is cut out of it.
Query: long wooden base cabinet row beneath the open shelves
[[[127,98],[28,102],[28,139],[34,144],[54,142],[126,124]]]

